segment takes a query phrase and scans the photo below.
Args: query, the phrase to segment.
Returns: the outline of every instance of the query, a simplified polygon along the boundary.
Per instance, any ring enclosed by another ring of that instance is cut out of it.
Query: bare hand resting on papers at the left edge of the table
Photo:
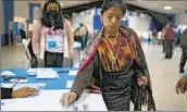
[[[13,90],[12,98],[24,98],[33,95],[34,92],[36,92],[35,88],[24,87],[17,90]]]

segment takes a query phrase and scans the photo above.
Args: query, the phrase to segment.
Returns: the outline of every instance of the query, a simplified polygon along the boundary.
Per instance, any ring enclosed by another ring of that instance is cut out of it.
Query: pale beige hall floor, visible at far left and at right
[[[187,111],[187,98],[175,94],[175,84],[182,76],[178,73],[180,49],[175,48],[172,60],[165,60],[161,46],[142,43],[151,73],[153,96],[160,111]],[[25,67],[26,55],[22,45],[2,47],[1,69]]]

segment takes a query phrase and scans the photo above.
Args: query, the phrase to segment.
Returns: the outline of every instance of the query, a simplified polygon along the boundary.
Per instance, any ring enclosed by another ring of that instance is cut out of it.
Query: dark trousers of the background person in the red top
[[[172,58],[173,55],[173,40],[165,40],[165,58]]]

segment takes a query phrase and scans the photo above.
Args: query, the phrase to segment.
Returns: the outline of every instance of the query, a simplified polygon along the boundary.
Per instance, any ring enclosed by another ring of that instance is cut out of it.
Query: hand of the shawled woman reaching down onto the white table
[[[60,102],[62,105],[68,105],[75,102],[77,99],[78,95],[76,92],[65,92],[62,95]]]

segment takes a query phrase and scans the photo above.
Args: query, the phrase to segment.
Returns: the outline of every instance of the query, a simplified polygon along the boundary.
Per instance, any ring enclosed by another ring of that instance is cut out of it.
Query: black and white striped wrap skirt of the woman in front
[[[104,73],[102,96],[109,111],[129,111],[133,71]]]

